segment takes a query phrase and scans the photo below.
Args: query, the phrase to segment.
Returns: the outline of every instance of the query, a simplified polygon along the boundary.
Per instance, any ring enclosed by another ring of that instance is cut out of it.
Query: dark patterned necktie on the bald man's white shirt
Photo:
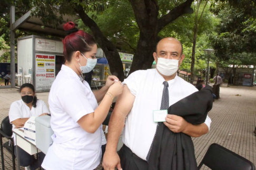
[[[160,108],[160,110],[166,110],[166,109],[169,108],[169,91],[168,91],[169,84],[168,84],[167,81],[164,81],[163,84],[164,84],[164,89],[163,89],[163,95],[162,95],[162,101],[161,101],[161,108]],[[157,123],[155,134],[157,132],[157,127],[158,126],[159,126],[159,123]],[[155,135],[154,135],[154,139],[155,139]],[[151,143],[149,153],[146,156],[146,161],[147,162],[149,162],[149,157],[150,157],[150,153],[151,153],[151,150],[152,150],[152,147],[153,147],[154,139],[153,139],[153,141]]]

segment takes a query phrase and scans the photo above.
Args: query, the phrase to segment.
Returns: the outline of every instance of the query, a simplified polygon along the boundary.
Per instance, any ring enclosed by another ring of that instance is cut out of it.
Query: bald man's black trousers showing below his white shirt
[[[121,167],[123,170],[147,170],[148,164],[145,160],[135,155],[129,147],[123,145],[119,151]]]

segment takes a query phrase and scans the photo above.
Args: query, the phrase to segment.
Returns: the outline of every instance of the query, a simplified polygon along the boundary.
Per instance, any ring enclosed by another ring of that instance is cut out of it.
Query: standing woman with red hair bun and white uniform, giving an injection
[[[63,28],[68,34],[63,40],[66,63],[49,94],[54,135],[42,167],[46,170],[92,170],[101,161],[102,122],[123,86],[117,77],[109,76],[104,87],[92,92],[81,75],[96,65],[96,41],[76,29],[72,22]]]

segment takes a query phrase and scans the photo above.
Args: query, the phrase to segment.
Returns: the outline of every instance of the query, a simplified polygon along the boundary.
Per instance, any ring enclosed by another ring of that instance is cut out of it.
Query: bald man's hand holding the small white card
[[[174,114],[168,114],[165,120],[163,123],[174,133],[183,132],[189,124],[181,116]]]

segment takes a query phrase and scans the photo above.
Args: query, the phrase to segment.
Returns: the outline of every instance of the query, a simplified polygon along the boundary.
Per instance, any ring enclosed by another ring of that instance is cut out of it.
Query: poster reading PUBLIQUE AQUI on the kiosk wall
[[[36,54],[36,90],[50,90],[55,80],[55,55]]]

